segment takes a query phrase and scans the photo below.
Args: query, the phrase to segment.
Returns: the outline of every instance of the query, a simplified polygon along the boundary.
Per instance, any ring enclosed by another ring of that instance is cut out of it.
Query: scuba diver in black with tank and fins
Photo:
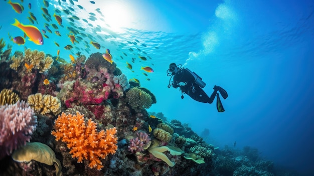
[[[228,97],[228,94],[220,86],[215,85],[214,92],[209,97],[202,89],[206,86],[206,83],[202,81],[202,78],[188,68],[182,67],[181,64],[176,65],[175,63],[171,63],[169,65],[169,69],[167,70],[167,76],[171,76],[168,88],[170,88],[171,86],[173,86],[174,88],[180,87],[182,99],[184,98],[183,94],[188,94],[196,101],[211,104],[216,96],[216,107],[218,112],[225,111],[224,107],[222,106],[218,91],[224,99]],[[170,84],[172,77],[174,77],[174,79]]]

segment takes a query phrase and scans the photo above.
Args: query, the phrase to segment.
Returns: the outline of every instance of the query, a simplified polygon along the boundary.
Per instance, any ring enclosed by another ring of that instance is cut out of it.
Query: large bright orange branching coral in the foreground
[[[72,157],[78,158],[77,162],[86,159],[90,168],[100,170],[103,167],[100,159],[104,159],[109,153],[115,153],[118,138],[115,136],[115,127],[97,132],[96,124],[91,119],[86,124],[84,114],[79,112],[76,115],[62,112],[56,119],[55,131],[51,134],[57,141],[61,139],[67,143]]]

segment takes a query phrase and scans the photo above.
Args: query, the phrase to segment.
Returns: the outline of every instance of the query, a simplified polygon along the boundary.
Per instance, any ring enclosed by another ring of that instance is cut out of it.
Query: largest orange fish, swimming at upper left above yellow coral
[[[15,19],[15,23],[12,25],[20,28],[26,34],[26,36],[29,37],[29,40],[34,42],[35,44],[37,45],[44,44],[42,33],[40,33],[38,28],[36,28],[35,26],[23,25],[17,19]]]

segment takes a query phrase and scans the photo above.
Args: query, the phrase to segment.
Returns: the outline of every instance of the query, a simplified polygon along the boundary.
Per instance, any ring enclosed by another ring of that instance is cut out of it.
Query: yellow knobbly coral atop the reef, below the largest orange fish
[[[46,54],[42,51],[27,49],[25,50],[25,62],[33,64],[40,72],[45,72],[50,69],[53,64],[53,59],[50,56],[45,58]]]

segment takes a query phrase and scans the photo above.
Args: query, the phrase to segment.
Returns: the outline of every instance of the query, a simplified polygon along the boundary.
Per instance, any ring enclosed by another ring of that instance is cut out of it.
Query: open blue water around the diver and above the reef
[[[31,10],[27,7],[30,2]],[[233,146],[236,141],[238,149],[246,145],[256,147],[262,156],[279,166],[297,170],[301,175],[314,175],[313,1],[95,2],[93,5],[79,1],[73,6],[61,1],[62,5],[58,6],[58,1],[54,1],[50,2],[48,10],[53,15],[53,5],[57,9],[72,7],[73,14],[81,19],[88,19],[89,12],[100,18],[96,8],[103,14],[110,11],[104,17],[105,22],[90,22],[94,27],[99,25],[101,33],[82,20],[74,24],[83,27],[86,34],[114,36],[104,42],[96,36],[95,39],[111,50],[114,62],[128,79],[139,79],[141,86],[156,96],[157,103],[148,111],[163,112],[168,119],[188,123],[199,134],[209,129],[207,140],[215,146]],[[10,24],[14,23],[14,18],[29,24],[28,11],[37,17],[39,25],[35,25],[40,30],[47,23],[41,15],[42,1],[24,1],[23,4],[25,11],[17,14],[7,2],[0,2],[3,17],[0,38],[12,44],[14,51],[27,47],[56,55],[60,49],[60,56],[70,60],[71,51],[63,49],[70,44],[66,28],[59,30],[62,37],[58,37],[50,27],[53,34],[47,34],[50,39],[44,39],[43,46],[30,41],[18,46],[9,40],[8,33],[13,37],[23,35]],[[115,10],[118,7],[123,9]],[[117,12],[122,14],[119,19],[109,17],[118,17]],[[70,26],[66,15],[62,17],[63,26]],[[57,24],[53,17],[52,20]],[[123,23],[114,24],[115,21]],[[139,41],[136,46],[127,42],[135,39]],[[59,43],[60,48],[54,42]],[[75,46],[85,49],[83,42]],[[104,49],[90,47],[90,53],[104,52]],[[140,61],[128,48],[140,49],[137,53],[151,60]],[[89,56],[85,51],[82,54]],[[137,58],[134,64],[131,57]],[[125,67],[126,61],[133,64],[134,73]],[[187,95],[181,99],[179,90],[168,88],[170,77],[166,71],[172,62],[201,76],[208,94],[212,93],[214,85],[227,90],[229,97],[222,100],[226,111],[217,112],[216,100],[213,104],[204,104]],[[145,80],[140,66],[154,69],[154,73],[148,75],[150,81]]]

